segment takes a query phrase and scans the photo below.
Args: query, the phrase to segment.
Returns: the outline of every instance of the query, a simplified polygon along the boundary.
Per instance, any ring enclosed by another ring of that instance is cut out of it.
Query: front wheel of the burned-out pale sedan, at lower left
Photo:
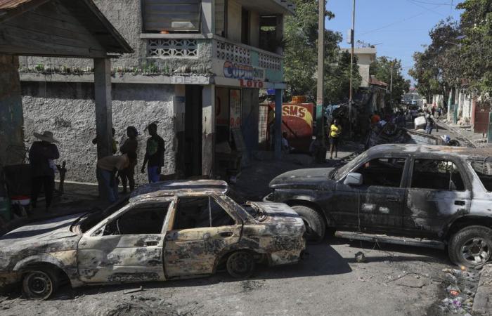
[[[25,298],[47,300],[58,289],[58,273],[51,268],[37,268],[25,273],[22,294]]]

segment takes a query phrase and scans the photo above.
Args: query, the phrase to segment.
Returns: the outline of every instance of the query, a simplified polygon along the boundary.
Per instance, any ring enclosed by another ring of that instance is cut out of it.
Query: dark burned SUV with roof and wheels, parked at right
[[[447,247],[451,261],[477,267],[492,255],[492,150],[378,145],[338,168],[274,178],[265,201],[283,202],[319,241],[337,237]]]

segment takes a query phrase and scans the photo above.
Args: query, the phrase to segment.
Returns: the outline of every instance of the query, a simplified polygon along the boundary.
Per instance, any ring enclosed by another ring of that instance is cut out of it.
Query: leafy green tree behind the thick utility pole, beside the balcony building
[[[316,96],[318,65],[318,1],[294,0],[296,15],[285,18],[284,75],[287,94],[304,95],[308,100]],[[335,18],[330,11],[329,19]],[[339,53],[342,34],[325,29],[325,104],[349,98],[350,58]],[[354,87],[360,84],[358,67],[354,67]]]

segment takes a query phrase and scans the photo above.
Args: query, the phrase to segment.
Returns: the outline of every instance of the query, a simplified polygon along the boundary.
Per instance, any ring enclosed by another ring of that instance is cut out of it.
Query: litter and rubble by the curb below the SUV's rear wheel
[[[479,272],[467,270],[465,267],[460,269],[446,268],[442,271],[445,273],[443,283],[447,297],[441,301],[439,308],[443,312],[462,315],[472,312]]]

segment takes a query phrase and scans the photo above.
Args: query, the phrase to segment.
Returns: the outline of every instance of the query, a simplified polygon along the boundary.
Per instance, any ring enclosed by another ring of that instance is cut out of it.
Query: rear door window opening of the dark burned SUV
[[[434,159],[415,159],[412,187],[420,189],[464,191],[465,183],[453,162]]]

